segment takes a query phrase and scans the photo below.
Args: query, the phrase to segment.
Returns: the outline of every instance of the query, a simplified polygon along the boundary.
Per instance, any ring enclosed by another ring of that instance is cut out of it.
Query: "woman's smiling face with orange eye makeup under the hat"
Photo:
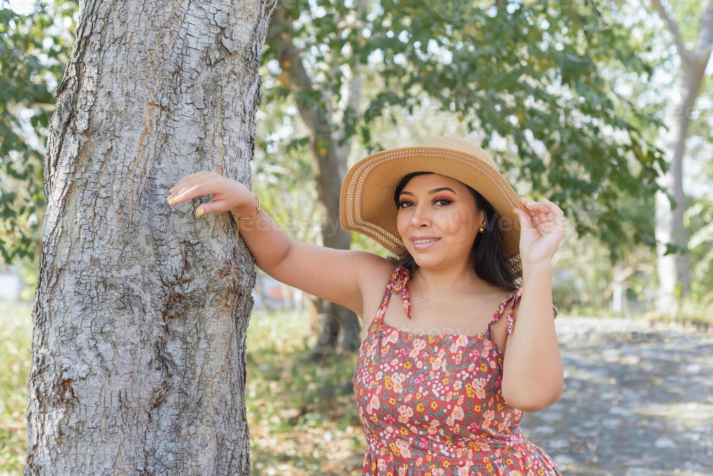
[[[484,217],[466,185],[434,173],[416,175],[406,182],[399,195],[396,222],[419,267],[438,267],[468,258]],[[416,236],[436,241],[419,244],[414,241]]]

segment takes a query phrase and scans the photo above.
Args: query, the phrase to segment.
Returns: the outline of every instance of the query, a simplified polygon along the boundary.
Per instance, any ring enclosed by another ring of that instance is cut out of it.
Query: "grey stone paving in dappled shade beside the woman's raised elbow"
[[[520,427],[563,475],[713,475],[713,329],[555,323],[563,395]]]

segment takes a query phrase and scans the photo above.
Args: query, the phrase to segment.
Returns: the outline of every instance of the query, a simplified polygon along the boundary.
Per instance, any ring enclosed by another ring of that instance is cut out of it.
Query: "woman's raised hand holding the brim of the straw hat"
[[[515,208],[520,219],[520,262],[523,267],[547,265],[565,236],[565,214],[553,202],[543,199],[542,203],[520,197],[523,207]]]

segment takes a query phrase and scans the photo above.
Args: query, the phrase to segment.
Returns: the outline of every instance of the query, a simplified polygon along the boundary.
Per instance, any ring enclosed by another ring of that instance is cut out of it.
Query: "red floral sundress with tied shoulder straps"
[[[384,323],[391,291],[401,293],[411,319],[408,281],[409,271],[396,267],[359,347],[353,382],[366,436],[362,474],[561,475],[520,433],[523,412],[501,395],[503,353],[491,324],[514,296],[506,317],[513,333],[522,286],[498,307],[486,333],[429,335]]]

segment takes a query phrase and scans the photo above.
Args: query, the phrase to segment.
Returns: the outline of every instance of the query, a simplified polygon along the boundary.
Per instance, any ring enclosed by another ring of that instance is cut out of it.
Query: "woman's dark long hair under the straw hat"
[[[411,177],[432,173],[434,172],[411,172],[409,175],[404,176],[394,190],[394,205],[396,209],[399,208],[401,190],[411,180]],[[476,241],[471,248],[470,261],[473,271],[475,271],[476,276],[488,282],[491,286],[515,291],[515,289],[518,289],[518,284],[515,284],[515,274],[508,266],[508,260],[503,255],[501,247],[503,243],[503,226],[500,215],[483,195],[468,185],[466,187],[468,187],[468,190],[471,191],[473,198],[476,200],[476,207],[486,212],[486,224],[484,227],[486,230],[483,233],[478,232]],[[411,276],[414,276],[416,270],[419,269],[419,265],[416,264],[414,257],[411,256],[408,250],[404,250],[397,257],[389,257],[389,259],[394,263],[394,266],[408,269]]]

